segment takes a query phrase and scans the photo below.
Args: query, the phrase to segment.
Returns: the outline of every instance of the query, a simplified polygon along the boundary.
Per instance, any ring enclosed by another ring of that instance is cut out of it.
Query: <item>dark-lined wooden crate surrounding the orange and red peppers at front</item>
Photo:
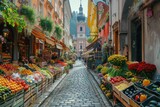
[[[144,100],[143,102],[136,101],[136,100],[135,100],[135,96],[136,96],[136,95],[139,95],[140,93],[147,95],[147,99],[151,97],[151,95],[150,95],[148,92],[146,92],[146,91],[144,91],[144,90],[141,90],[141,91],[139,91],[138,93],[136,93],[135,95],[132,96],[132,100],[130,101],[130,105],[131,105],[131,106],[133,106],[133,107],[140,107],[140,105],[141,105],[144,101],[147,100],[147,99],[146,99],[146,100]]]

